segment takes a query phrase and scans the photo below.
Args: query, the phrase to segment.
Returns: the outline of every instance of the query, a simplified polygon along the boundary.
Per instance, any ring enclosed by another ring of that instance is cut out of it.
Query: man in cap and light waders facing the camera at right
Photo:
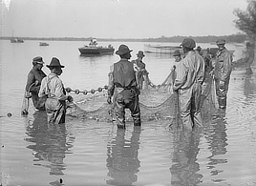
[[[224,39],[218,39],[216,44],[219,50],[216,53],[216,62],[214,65],[214,69],[210,72],[210,74],[214,74],[215,89],[218,98],[219,108],[225,109],[226,93],[228,91],[230,74],[232,72],[232,55],[225,49]]]

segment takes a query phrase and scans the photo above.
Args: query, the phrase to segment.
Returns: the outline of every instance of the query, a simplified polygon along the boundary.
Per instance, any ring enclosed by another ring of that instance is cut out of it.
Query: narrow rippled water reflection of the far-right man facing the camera
[[[209,159],[207,168],[211,170],[211,176],[216,176],[223,173],[224,170],[221,170],[217,165],[227,163],[226,158],[221,158],[222,155],[225,155],[227,152],[227,135],[225,133],[226,121],[224,119],[224,114],[225,111],[219,113],[213,120],[211,126],[207,129],[206,139],[208,140],[208,148],[211,152],[211,155],[207,157]]]

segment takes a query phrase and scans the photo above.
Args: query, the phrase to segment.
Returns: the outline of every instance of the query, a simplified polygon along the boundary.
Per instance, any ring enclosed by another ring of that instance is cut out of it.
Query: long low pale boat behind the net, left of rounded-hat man
[[[144,45],[144,52],[172,54],[177,50],[179,50],[180,52],[183,52],[181,46],[150,45],[150,44]]]

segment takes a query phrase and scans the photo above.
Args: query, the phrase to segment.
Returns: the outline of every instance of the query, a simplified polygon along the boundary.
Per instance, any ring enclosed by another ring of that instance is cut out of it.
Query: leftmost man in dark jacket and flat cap
[[[44,61],[41,56],[32,59],[32,70],[28,74],[25,95],[27,98],[32,96],[32,104],[39,111],[45,111],[45,98],[38,97],[41,81],[46,76],[45,72],[42,71],[43,66]]]

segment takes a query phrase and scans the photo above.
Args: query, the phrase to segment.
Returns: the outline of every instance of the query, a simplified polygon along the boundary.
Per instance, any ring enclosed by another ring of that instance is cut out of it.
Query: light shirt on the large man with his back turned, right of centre
[[[179,63],[176,66],[174,90],[189,89],[195,82],[203,84],[204,62],[200,54],[195,51],[187,52]]]

